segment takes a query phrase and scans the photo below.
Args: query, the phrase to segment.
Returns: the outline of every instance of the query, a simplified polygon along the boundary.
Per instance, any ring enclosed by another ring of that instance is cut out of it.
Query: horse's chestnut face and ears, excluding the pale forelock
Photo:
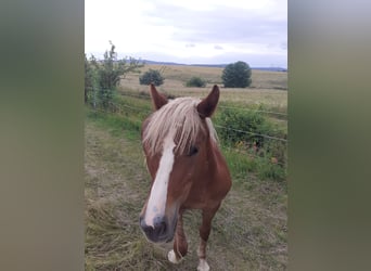
[[[156,109],[167,103],[151,86],[152,100]],[[210,94],[196,105],[197,124],[200,129],[192,136],[192,141],[183,147],[182,125],[172,127],[158,141],[156,149],[143,144],[146,165],[152,177],[149,197],[140,216],[140,225],[146,237],[152,242],[169,242],[174,237],[180,206],[188,198],[190,190],[197,179],[205,172],[205,162],[210,144],[210,131],[205,118],[210,116],[219,98],[218,87],[214,87]],[[150,120],[143,122],[142,136],[148,132]],[[193,131],[194,129],[192,129]]]

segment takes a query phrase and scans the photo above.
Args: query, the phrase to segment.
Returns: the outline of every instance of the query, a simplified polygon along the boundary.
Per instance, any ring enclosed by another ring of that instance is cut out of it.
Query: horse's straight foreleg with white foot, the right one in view
[[[218,205],[214,209],[207,209],[207,210],[202,211],[202,224],[200,227],[200,246],[197,250],[197,255],[200,259],[199,267],[197,267],[199,271],[209,270],[209,267],[206,261],[206,244],[207,244],[208,235],[210,234],[210,230],[212,230],[212,220],[216,211],[219,209],[219,206],[220,205]]]

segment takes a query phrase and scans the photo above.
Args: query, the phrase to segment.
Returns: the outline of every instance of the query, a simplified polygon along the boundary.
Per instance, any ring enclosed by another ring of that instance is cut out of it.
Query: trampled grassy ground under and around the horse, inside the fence
[[[166,259],[170,245],[148,243],[139,228],[150,177],[139,132],[126,121],[121,116],[87,109],[86,270],[174,270]],[[250,162],[241,159],[245,156],[223,152],[231,164],[233,186],[213,222],[207,251],[210,267],[284,270],[284,183],[258,179],[246,171],[243,164]],[[187,212],[184,221],[190,253],[176,270],[194,270],[200,214]]]

